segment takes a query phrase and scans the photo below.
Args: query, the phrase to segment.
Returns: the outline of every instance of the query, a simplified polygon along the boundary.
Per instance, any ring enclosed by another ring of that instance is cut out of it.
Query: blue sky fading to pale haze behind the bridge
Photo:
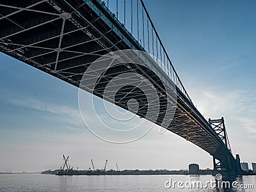
[[[233,154],[255,162],[256,2],[145,5],[193,103],[206,119],[224,116]],[[108,169],[118,163],[120,170],[212,168],[204,150],[172,132],[159,134],[157,126],[131,143],[100,140],[81,118],[78,88],[3,53],[0,90],[0,172],[54,170],[62,154],[79,169],[91,159],[95,168],[108,159]]]

